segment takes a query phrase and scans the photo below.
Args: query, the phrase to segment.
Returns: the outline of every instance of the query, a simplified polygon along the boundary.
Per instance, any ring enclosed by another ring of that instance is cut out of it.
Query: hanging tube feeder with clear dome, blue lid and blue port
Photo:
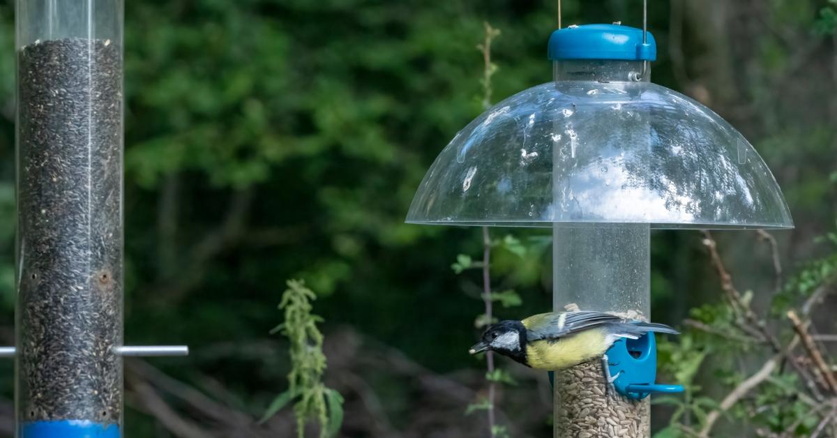
[[[465,126],[419,186],[413,224],[546,227],[553,307],[650,318],[651,229],[785,229],[767,165],[706,106],[650,82],[653,35],[619,24],[552,33],[553,80]],[[619,341],[608,368],[555,375],[556,437],[650,435],[653,334]]]

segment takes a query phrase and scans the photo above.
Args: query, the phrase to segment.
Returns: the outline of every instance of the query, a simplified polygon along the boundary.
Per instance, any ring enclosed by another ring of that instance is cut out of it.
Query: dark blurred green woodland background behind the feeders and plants
[[[788,276],[828,254],[815,238],[834,229],[837,53],[819,13],[829,4],[650,2],[652,80],[730,121],[783,188],[796,224],[775,233]],[[269,331],[288,278],[320,296],[344,435],[485,436],[482,415],[464,415],[484,387],[484,363],[466,353],[479,274],[450,269],[460,253],[479,257],[480,230],[403,219],[436,154],[481,112],[483,22],[502,32],[501,100],[551,79],[555,11],[526,0],[126,2],[126,343],[193,351],[129,367],[128,436],[294,435],[287,413],[251,425],[285,389],[286,345]],[[641,26],[641,3],[566,0],[563,20]],[[0,25],[0,338],[11,344],[12,2],[0,3]],[[522,259],[497,251],[498,287],[523,299],[499,316],[550,309],[550,250],[531,239],[543,233],[492,233],[531,246]],[[768,245],[752,232],[716,237],[742,290],[767,307]],[[655,232],[652,269],[655,320],[678,325],[718,300],[696,231]],[[512,436],[550,435],[545,376],[500,363],[519,381],[501,389],[501,421]],[[705,374],[706,391],[720,388]],[[12,361],[0,363],[0,392],[8,433]],[[668,415],[655,410],[656,429]],[[178,419],[204,435],[184,435]]]

